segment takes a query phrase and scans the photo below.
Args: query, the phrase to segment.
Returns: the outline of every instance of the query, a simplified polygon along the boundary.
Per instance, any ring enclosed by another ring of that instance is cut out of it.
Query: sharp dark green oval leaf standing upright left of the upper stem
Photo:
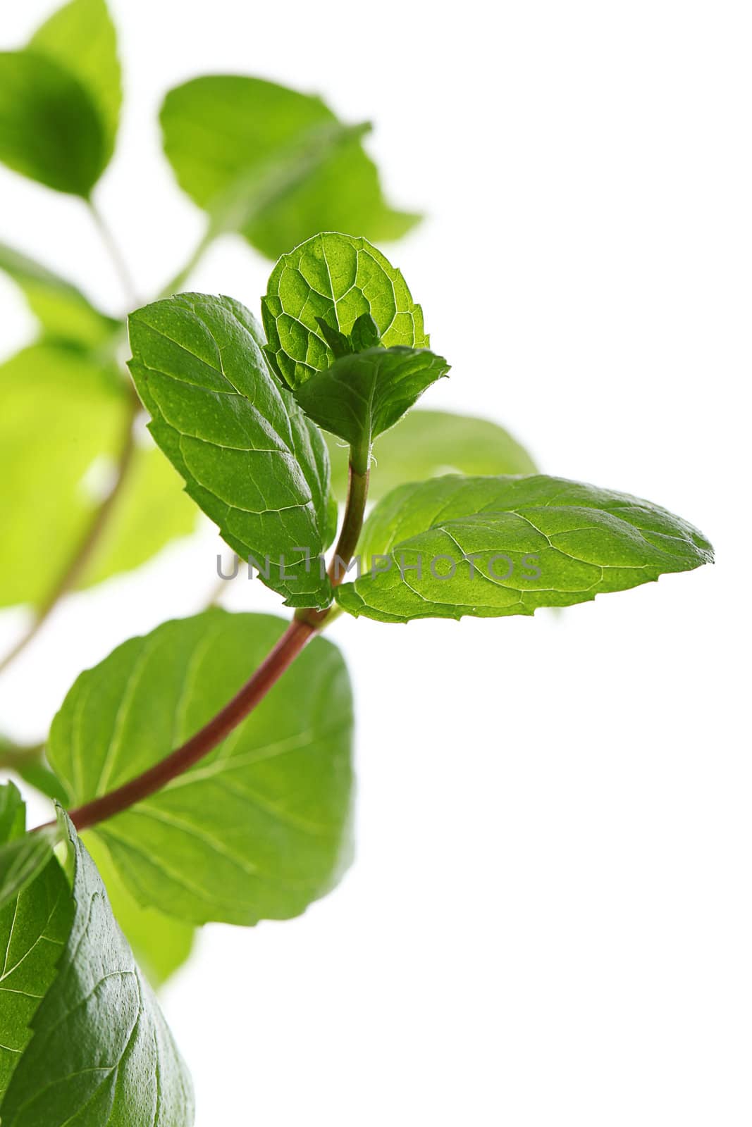
[[[132,313],[129,331],[150,431],[189,496],[286,605],[328,605],[326,444],[269,374],[251,314],[180,294]]]

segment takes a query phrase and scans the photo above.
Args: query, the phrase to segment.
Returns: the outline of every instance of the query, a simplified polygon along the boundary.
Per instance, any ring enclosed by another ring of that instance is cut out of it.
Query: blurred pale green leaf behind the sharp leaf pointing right
[[[327,438],[331,485],[347,491],[347,447]],[[407,481],[444,473],[534,473],[530,454],[507,431],[487,419],[416,409],[373,447],[369,499],[379,500]]]

